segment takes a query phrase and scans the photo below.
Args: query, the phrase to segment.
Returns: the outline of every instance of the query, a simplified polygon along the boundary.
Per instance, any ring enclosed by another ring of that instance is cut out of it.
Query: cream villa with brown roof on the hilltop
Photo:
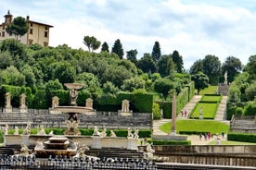
[[[6,39],[15,38],[14,35],[10,36],[6,32],[6,27],[12,22],[13,16],[8,11],[4,17],[5,22],[0,24],[0,42]],[[38,43],[42,46],[48,46],[50,38],[50,28],[53,28],[53,26],[30,20],[29,16],[27,16],[27,21],[29,29],[25,35],[19,37],[19,42],[22,42],[24,44]]]

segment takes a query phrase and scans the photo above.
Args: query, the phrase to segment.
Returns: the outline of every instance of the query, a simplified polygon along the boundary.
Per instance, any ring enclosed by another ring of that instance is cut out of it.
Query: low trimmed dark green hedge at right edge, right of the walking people
[[[249,133],[228,133],[227,140],[244,141],[256,143],[256,134]]]

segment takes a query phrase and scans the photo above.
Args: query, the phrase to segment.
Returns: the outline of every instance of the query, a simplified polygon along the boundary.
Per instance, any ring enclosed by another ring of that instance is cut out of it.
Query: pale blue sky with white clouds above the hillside
[[[160,42],[161,55],[177,50],[189,69],[206,55],[224,63],[235,56],[243,65],[256,55],[256,0],[0,0],[0,15],[54,26],[50,46],[87,47],[86,35],[108,42],[120,39],[137,59]],[[4,22],[4,17],[0,18]]]

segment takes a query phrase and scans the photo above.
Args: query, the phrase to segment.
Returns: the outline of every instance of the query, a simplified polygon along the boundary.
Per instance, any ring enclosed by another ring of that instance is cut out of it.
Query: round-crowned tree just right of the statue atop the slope
[[[222,66],[223,74],[227,72],[228,84],[232,82],[235,77],[242,70],[242,63],[239,58],[235,56],[228,56]]]

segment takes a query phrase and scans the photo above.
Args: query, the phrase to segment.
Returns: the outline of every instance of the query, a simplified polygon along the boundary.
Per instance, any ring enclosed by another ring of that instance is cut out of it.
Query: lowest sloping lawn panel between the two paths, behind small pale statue
[[[195,110],[190,114],[193,118],[199,118],[199,110],[202,107],[202,115],[207,118],[214,118],[218,108],[218,103],[198,103]]]

